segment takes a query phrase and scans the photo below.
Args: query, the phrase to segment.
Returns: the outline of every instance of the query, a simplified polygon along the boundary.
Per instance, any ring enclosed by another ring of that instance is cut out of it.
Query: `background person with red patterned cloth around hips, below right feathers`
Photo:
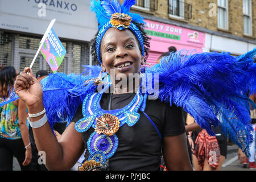
[[[185,130],[189,133],[195,171],[220,171],[228,151],[228,142],[225,135],[221,133],[221,126],[213,128],[215,136],[210,136],[188,114]]]

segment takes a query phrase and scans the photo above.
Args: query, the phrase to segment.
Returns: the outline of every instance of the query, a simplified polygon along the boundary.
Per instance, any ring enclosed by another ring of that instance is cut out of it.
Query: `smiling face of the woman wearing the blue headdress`
[[[143,64],[144,57],[139,50],[137,38],[130,30],[118,30],[110,28],[102,38],[101,42],[101,67],[110,75],[112,82],[117,84],[118,74],[125,74],[125,78],[129,78],[129,74],[138,73]],[[112,71],[110,71],[112,69]],[[131,80],[132,81],[132,80]],[[129,82],[129,81],[127,81]],[[132,84],[132,83],[131,83]],[[134,91],[134,90],[127,90]]]

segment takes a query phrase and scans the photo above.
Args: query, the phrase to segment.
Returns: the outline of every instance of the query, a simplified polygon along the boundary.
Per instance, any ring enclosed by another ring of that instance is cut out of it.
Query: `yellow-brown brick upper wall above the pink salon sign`
[[[158,9],[151,15],[158,16],[164,19],[170,19],[171,21],[179,21],[187,24],[191,24],[197,27],[207,28],[213,31],[227,32],[231,35],[245,37],[243,35],[243,1],[242,0],[229,0],[229,30],[221,31],[218,28],[217,16],[210,16],[209,11],[213,6],[209,7],[210,3],[216,5],[218,9],[217,0],[184,0],[185,3],[192,5],[192,19],[179,20],[170,18],[168,15],[168,0],[158,0]],[[255,40],[256,36],[256,1],[252,0],[253,10],[253,37],[247,37]]]

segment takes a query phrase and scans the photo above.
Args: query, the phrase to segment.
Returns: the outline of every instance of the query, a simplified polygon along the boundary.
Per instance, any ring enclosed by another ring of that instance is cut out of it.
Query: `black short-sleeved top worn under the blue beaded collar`
[[[135,94],[113,94],[111,109],[120,109],[131,100]],[[103,94],[100,105],[104,110],[108,110],[110,94]],[[145,113],[151,118],[163,137],[171,137],[185,133],[181,108],[176,105],[160,100],[147,100]],[[118,148],[112,158],[109,159],[109,170],[159,170],[162,140],[155,127],[148,120],[146,115],[139,111],[138,122],[129,127],[123,125],[117,133]],[[82,116],[82,105],[76,111],[73,122],[79,121]],[[82,133],[85,147],[90,134],[94,132],[91,127]],[[86,151],[85,159],[88,159],[89,152]]]

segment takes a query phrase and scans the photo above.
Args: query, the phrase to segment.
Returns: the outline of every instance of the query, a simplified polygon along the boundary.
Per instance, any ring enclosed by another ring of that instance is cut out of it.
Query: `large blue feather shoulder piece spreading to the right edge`
[[[222,133],[249,156],[253,128],[246,94],[256,90],[255,53],[256,49],[239,57],[225,52],[172,53],[146,69],[143,88],[150,96],[157,85],[160,100],[183,107],[210,135],[212,126],[221,125]]]

